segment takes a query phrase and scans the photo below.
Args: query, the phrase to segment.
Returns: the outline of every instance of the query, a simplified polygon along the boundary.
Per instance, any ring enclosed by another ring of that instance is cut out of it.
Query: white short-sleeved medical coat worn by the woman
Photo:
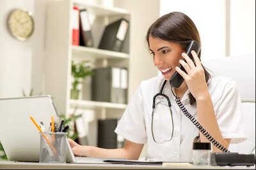
[[[172,134],[170,109],[164,97],[156,99],[153,120],[154,136],[160,143],[155,143],[152,138],[152,101],[154,95],[161,89],[163,81],[163,76],[157,76],[141,82],[115,132],[134,143],[147,143],[146,159],[191,162],[193,139],[198,136],[199,131],[177,106],[168,82],[163,93],[170,98],[172,103],[173,138],[171,141],[164,141],[170,139]],[[246,139],[241,99],[236,82],[227,77],[212,75],[207,84],[223,138],[231,138],[231,143],[239,143]],[[188,94],[189,90],[181,101],[189,113],[197,118],[196,104],[189,104]]]

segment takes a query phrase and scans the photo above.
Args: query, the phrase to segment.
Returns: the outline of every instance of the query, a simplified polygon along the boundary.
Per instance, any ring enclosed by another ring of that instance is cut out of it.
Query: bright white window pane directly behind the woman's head
[[[202,43],[202,60],[225,56],[225,1],[161,0],[160,15],[180,11],[195,22]]]

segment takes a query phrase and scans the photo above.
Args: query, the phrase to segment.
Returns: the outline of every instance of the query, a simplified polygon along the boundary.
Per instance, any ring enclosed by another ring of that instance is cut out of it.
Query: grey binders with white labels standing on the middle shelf
[[[94,70],[92,100],[110,103],[127,103],[128,71],[120,67]]]

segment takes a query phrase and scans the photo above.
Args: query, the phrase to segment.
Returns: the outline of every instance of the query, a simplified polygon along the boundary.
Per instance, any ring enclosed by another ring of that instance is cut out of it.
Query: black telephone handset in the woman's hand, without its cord
[[[191,54],[192,50],[194,50],[196,52],[196,54],[198,55],[198,53],[201,50],[200,44],[197,43],[196,41],[190,41],[190,43],[186,47],[186,53],[188,54],[189,58],[192,59],[193,62],[194,62],[194,58]],[[186,72],[186,70],[184,69],[184,67],[181,66],[181,64],[180,64],[179,67],[182,71]],[[172,75],[172,77],[170,78],[169,81],[170,81],[170,85],[172,87],[178,88],[178,87],[180,87],[180,85],[184,81],[184,78],[177,71],[175,71],[175,73]]]

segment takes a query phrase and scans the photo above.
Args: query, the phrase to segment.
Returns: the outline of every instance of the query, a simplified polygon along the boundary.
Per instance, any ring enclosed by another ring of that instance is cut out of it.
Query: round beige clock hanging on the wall
[[[34,20],[31,13],[20,9],[10,12],[7,25],[12,36],[20,41],[28,39],[34,31]]]

